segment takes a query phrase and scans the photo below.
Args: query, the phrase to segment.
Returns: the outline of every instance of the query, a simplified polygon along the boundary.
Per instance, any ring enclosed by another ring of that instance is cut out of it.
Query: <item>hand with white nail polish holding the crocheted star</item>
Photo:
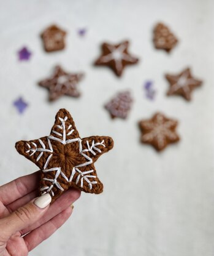
[[[49,194],[36,198],[38,182],[35,172],[0,186],[0,256],[28,255],[71,216],[80,191],[67,190],[50,206]]]

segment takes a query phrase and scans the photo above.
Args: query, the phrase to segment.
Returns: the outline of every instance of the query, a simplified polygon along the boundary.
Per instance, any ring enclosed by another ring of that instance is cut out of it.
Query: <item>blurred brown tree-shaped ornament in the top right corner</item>
[[[153,42],[156,49],[166,50],[170,52],[178,42],[175,35],[163,23],[158,23],[154,28]]]

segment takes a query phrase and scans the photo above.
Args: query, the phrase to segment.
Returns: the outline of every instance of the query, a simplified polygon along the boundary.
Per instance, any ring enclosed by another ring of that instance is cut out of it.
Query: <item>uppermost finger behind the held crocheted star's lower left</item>
[[[7,206],[7,204],[36,190],[38,184],[39,171],[16,178],[15,180],[12,180],[12,182],[0,186],[0,201]]]

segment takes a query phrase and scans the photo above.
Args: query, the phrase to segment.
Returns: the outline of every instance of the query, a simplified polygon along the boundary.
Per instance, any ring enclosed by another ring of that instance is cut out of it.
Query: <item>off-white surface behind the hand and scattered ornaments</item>
[[[37,167],[14,148],[21,139],[48,135],[56,111],[67,108],[82,137],[110,135],[115,148],[96,163],[104,193],[82,193],[66,225],[31,255],[64,256],[213,256],[214,122],[212,0],[150,1],[0,1],[0,183],[30,174]],[[166,22],[180,39],[171,54],[151,43],[156,22]],[[47,54],[39,34],[57,23],[68,34],[66,50]],[[87,28],[84,38],[78,28]],[[118,79],[108,68],[92,64],[103,41],[131,40],[139,65]],[[18,62],[17,50],[32,50]],[[67,71],[84,71],[82,98],[48,103],[37,86],[59,63]],[[166,97],[164,73],[191,66],[204,85],[193,101]],[[142,84],[155,81],[155,102]],[[103,105],[116,92],[131,89],[135,102],[126,121],[112,121]],[[12,105],[23,96],[29,108],[20,116]],[[155,111],[180,121],[182,141],[161,154],[139,143],[137,122]]]

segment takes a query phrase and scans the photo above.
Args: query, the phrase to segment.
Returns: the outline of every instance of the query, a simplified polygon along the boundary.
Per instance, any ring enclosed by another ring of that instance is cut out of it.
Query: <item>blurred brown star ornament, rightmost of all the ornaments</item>
[[[196,87],[202,85],[202,81],[193,78],[190,68],[186,68],[179,74],[166,74],[170,87],[167,95],[181,95],[186,100],[191,100],[191,93]]]

